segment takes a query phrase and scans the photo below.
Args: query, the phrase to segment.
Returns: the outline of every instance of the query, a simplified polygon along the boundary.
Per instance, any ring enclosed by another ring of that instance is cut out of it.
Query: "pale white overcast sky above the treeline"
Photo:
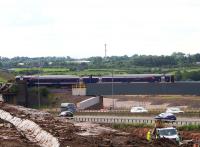
[[[0,56],[200,51],[199,0],[1,0]]]

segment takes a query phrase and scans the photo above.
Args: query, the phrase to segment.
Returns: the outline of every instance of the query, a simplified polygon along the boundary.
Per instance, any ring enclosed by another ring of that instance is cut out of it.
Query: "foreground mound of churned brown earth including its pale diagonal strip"
[[[1,147],[26,146],[83,146],[83,147],[119,147],[119,146],[178,146],[169,139],[156,139],[148,142],[148,128],[115,130],[103,124],[75,123],[65,118],[21,106],[1,104]],[[193,140],[181,146],[193,146],[200,138],[199,132],[180,132],[185,140]]]

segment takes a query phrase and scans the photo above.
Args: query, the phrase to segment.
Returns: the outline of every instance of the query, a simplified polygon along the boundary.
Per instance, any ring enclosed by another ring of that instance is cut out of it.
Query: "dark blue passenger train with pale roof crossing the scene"
[[[28,86],[65,86],[79,83],[134,83],[134,82],[174,82],[172,74],[130,74],[113,76],[72,76],[72,75],[34,75],[16,76],[16,82],[26,81]]]

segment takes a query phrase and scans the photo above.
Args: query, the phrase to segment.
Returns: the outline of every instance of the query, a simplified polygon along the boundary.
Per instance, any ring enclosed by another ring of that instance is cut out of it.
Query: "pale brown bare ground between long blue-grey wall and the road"
[[[200,96],[194,95],[114,95],[104,96],[104,106],[109,107],[115,103],[117,108],[130,108],[131,106],[145,106],[149,109],[159,109],[179,106],[188,109],[200,108]]]

